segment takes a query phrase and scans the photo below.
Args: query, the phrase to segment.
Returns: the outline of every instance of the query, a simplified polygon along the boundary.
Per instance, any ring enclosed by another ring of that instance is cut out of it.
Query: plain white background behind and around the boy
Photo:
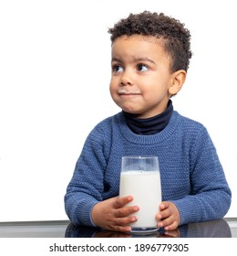
[[[191,30],[191,68],[173,104],[208,128],[232,188],[226,217],[237,217],[234,2],[0,0],[0,221],[67,219],[84,141],[119,111],[108,91],[108,27],[143,10]]]

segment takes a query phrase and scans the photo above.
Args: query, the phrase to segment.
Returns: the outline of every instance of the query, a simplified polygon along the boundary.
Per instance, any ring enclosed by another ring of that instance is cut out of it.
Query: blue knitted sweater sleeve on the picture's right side
[[[222,219],[231,206],[232,192],[207,130],[197,134],[191,148],[191,195],[174,200],[180,224]]]

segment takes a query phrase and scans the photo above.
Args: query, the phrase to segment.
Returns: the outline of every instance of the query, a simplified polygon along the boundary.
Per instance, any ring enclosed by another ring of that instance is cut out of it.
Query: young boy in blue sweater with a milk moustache
[[[132,195],[118,197],[123,155],[159,157],[158,227],[169,231],[189,222],[222,219],[231,205],[231,190],[209,133],[201,123],[175,112],[170,100],[189,68],[189,30],[174,18],[145,11],[121,19],[108,32],[109,88],[121,112],[88,135],[67,187],[69,219],[130,231],[139,206],[126,206]]]

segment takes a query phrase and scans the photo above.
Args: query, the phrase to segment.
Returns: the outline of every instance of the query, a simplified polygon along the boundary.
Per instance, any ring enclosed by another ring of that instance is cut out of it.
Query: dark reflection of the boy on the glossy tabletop
[[[150,234],[129,234],[69,223],[66,238],[231,238],[232,232],[224,219],[190,223],[166,233],[164,229]]]

